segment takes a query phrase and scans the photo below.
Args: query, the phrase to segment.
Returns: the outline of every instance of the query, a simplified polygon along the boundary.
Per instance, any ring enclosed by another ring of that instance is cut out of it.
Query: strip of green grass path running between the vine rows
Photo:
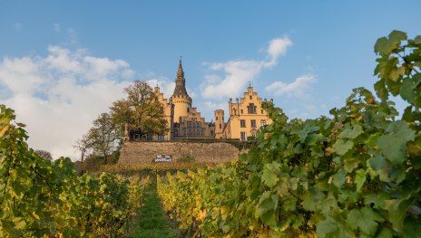
[[[161,199],[156,193],[156,185],[152,184],[146,192],[141,215],[132,225],[131,233],[125,237],[178,237],[171,229],[171,221],[162,210]]]

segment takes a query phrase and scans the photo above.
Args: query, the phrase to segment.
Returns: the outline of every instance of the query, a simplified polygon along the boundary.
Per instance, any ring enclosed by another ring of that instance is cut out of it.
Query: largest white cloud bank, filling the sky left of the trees
[[[132,73],[121,60],[50,46],[45,57],[0,62],[0,85],[8,91],[0,103],[15,109],[17,120],[27,125],[32,148],[77,159],[74,141],[114,100],[123,97]]]

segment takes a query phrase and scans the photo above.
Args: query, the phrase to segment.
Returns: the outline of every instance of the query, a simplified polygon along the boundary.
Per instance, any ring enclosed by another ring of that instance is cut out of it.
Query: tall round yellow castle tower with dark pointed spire
[[[186,119],[191,111],[191,97],[187,94],[186,80],[182,71],[181,59],[177,78],[175,79],[175,89],[171,96],[171,104],[174,105],[174,123],[180,123]]]

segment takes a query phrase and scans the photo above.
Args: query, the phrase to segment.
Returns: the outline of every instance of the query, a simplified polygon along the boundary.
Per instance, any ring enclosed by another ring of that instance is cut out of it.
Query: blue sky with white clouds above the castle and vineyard
[[[328,116],[352,89],[373,90],[377,38],[421,34],[420,10],[419,0],[0,0],[0,104],[27,125],[30,147],[75,160],[74,141],[132,81],[170,98],[182,57],[207,121],[249,83],[289,119]]]

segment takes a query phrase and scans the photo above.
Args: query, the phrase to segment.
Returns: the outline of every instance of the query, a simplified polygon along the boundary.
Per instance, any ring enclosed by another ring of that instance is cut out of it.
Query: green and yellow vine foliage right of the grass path
[[[266,104],[273,123],[238,162],[160,177],[164,209],[204,237],[416,237],[421,37],[394,31],[375,51],[381,101],[358,88],[304,121]],[[409,104],[401,119],[389,94]]]

